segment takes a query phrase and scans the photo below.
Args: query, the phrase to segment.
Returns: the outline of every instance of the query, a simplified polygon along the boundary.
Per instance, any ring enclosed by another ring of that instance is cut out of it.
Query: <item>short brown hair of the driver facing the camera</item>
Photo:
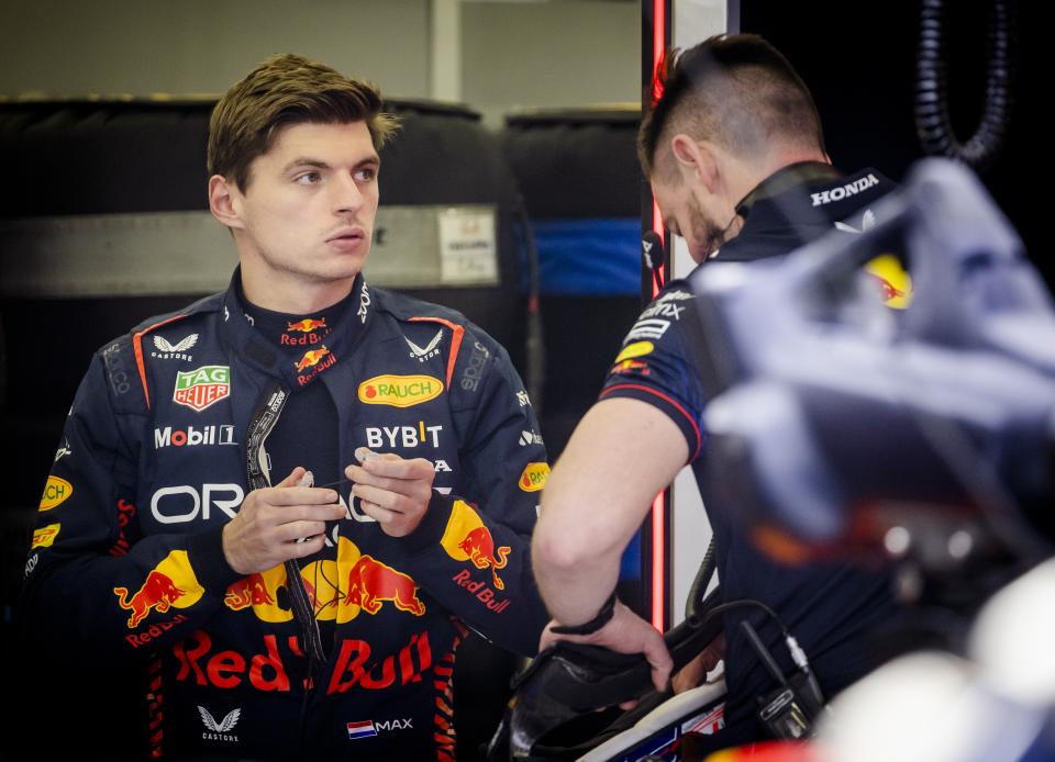
[[[212,110],[209,173],[233,179],[245,191],[253,159],[267,153],[284,127],[359,121],[366,122],[377,150],[399,127],[369,82],[292,53],[271,56],[232,86]]]

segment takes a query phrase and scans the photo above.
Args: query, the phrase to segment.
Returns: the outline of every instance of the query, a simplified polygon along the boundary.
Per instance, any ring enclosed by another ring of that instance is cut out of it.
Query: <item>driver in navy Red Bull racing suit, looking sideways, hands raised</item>
[[[523,385],[460,314],[360,272],[396,126],[299,56],[231,88],[231,287],[108,344],[74,401],[23,616],[49,655],[148,664],[153,755],[453,760],[466,626],[534,651]]]

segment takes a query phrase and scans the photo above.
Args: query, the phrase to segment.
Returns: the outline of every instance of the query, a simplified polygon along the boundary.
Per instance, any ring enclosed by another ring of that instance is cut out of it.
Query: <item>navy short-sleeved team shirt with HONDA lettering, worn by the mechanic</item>
[[[740,235],[701,267],[785,255],[833,228],[853,235],[875,224],[871,204],[893,188],[875,170],[841,176],[820,164],[784,169],[742,202],[737,212],[745,222]],[[877,287],[888,305],[897,307],[898,302],[891,300],[908,298],[910,287],[895,273],[880,270],[871,274],[884,281]],[[888,293],[885,283],[897,293]],[[735,502],[711,490],[701,457],[707,447],[707,396],[688,344],[698,336],[689,323],[699,320],[688,283],[677,280],[667,284],[628,333],[601,399],[641,400],[663,411],[681,429],[689,447],[688,464],[696,473],[714,531],[723,598],[754,598],[776,609],[806,649],[822,690],[831,697],[876,665],[869,632],[897,613],[890,580],[847,564],[786,567],[774,561],[749,540]],[[785,674],[796,673],[773,619],[751,608],[726,613],[725,722],[738,726],[736,732],[744,736],[726,735],[724,743],[765,737],[765,730],[754,724],[755,697],[777,687],[741,635],[737,624],[743,619],[752,623]]]

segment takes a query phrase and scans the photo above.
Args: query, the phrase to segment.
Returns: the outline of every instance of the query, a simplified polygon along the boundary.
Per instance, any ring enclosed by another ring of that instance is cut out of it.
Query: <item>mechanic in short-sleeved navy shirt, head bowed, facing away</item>
[[[844,176],[832,167],[809,90],[754,35],[711,37],[678,56],[641,126],[638,148],[666,227],[706,267],[784,255],[834,228],[860,229],[874,220],[870,204],[892,188],[875,170]],[[831,697],[874,664],[866,634],[893,613],[889,580],[847,565],[776,563],[752,545],[737,506],[710,489],[701,457],[708,400],[686,327],[698,320],[688,284],[674,281],[626,335],[600,401],[573,435],[543,498],[533,539],[543,598],[555,624],[578,639],[643,652],[664,687],[671,662],[659,634],[606,601],[653,497],[691,464],[714,530],[723,598],[775,609]],[[725,721],[736,726],[721,736],[726,743],[766,735],[755,721],[755,699],[776,687],[741,634],[744,620],[786,674],[796,671],[778,623],[757,607],[724,615]],[[544,642],[554,637],[547,631]],[[693,663],[676,686],[696,684],[715,655]]]

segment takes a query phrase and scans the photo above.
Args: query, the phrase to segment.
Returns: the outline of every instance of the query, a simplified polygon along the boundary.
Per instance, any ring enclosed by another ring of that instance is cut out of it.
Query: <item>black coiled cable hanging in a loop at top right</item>
[[[947,156],[975,171],[991,166],[1003,147],[1011,113],[1013,80],[1013,0],[995,0],[987,34],[986,104],[974,135],[960,143],[948,116],[943,43],[944,0],[921,0],[920,55],[917,63],[915,126],[923,150]]]

